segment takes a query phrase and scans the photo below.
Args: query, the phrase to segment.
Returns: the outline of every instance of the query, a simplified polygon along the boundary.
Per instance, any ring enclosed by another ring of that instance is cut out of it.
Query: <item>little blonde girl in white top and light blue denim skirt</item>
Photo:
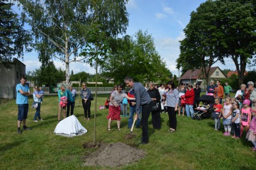
[[[223,125],[225,129],[225,133],[223,135],[230,135],[231,131],[231,114],[232,114],[232,104],[231,104],[231,98],[227,97],[225,101],[226,105],[224,105],[222,110],[222,116],[223,116]]]

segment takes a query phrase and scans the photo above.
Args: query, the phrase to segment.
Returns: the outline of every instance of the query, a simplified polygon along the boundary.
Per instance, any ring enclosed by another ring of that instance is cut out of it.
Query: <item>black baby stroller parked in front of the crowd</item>
[[[196,107],[193,115],[193,119],[195,120],[202,120],[203,118],[209,118],[212,115],[213,111],[213,104],[214,104],[214,97],[209,95],[202,95],[200,98],[198,98],[200,102],[203,102],[204,105],[201,107]]]

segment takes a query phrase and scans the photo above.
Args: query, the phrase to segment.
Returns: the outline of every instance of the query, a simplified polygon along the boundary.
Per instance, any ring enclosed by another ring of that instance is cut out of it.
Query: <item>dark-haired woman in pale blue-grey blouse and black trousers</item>
[[[169,130],[168,132],[175,132],[177,130],[176,112],[179,104],[179,91],[175,88],[173,81],[168,82],[168,89],[165,89],[167,112],[169,116]]]

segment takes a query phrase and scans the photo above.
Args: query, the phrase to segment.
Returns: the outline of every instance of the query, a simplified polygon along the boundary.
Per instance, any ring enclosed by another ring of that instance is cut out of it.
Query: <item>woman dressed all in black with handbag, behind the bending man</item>
[[[153,107],[151,110],[153,128],[157,128],[157,130],[160,130],[161,129],[161,116],[160,116],[161,96],[160,96],[159,90],[154,88],[154,84],[152,82],[148,84],[148,94],[153,103]]]

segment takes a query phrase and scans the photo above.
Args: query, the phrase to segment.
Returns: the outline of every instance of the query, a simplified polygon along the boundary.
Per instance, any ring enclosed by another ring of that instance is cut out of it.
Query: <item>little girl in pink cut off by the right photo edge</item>
[[[246,139],[248,139],[248,141],[252,141],[254,145],[252,147],[252,150],[256,151],[256,107],[252,107],[251,112],[252,112],[253,118],[250,124],[250,129],[246,135]]]

